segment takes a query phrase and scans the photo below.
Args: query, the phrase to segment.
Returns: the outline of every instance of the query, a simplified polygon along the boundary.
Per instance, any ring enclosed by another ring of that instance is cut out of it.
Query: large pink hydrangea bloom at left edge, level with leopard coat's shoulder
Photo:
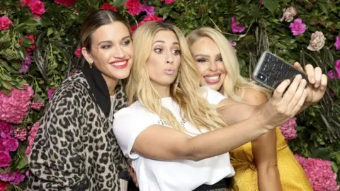
[[[28,115],[33,93],[33,89],[28,85],[25,85],[23,90],[13,88],[11,96],[0,91],[0,120],[15,124],[23,122],[23,118]]]

